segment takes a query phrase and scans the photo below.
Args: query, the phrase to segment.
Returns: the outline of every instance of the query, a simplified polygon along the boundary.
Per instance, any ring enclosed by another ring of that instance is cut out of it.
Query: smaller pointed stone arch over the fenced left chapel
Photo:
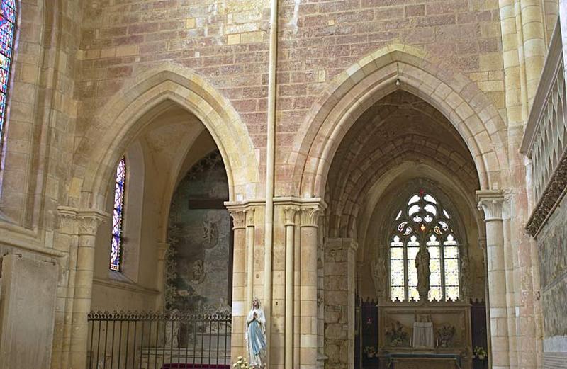
[[[99,110],[80,142],[73,181],[82,181],[81,193],[78,198],[72,198],[71,193],[71,202],[82,208],[103,206],[116,162],[132,137],[150,123],[144,115],[164,102],[173,102],[195,115],[210,132],[225,163],[230,200],[254,197],[259,174],[252,141],[222,94],[189,69],[171,63],[132,80],[136,83],[124,86]]]

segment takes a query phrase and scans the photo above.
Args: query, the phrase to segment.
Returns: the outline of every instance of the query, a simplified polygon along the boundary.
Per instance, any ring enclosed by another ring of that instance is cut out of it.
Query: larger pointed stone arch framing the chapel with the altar
[[[419,49],[390,45],[339,74],[313,104],[293,142],[290,163],[301,197],[320,197],[343,137],[376,101],[403,90],[437,108],[471,152],[481,189],[503,186],[505,123],[478,85],[447,64],[433,65]]]

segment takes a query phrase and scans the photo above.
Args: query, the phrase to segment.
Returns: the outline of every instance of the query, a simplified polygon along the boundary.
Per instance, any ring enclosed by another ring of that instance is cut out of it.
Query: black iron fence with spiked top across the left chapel
[[[230,368],[230,312],[91,312],[89,369]]]

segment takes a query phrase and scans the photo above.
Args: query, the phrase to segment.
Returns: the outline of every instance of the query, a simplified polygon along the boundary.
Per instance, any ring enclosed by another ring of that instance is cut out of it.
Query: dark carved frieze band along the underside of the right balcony
[[[563,195],[567,191],[567,152],[557,165],[554,174],[551,176],[547,187],[541,195],[532,216],[527,221],[526,230],[532,237],[537,237],[547,218],[556,208]]]

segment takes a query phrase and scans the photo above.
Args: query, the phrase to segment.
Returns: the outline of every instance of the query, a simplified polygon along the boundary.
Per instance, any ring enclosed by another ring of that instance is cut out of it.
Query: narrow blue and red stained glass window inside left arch
[[[112,214],[111,264],[113,271],[122,269],[122,225],[124,222],[124,190],[126,185],[126,159],[122,157],[116,166],[114,185],[114,210]]]

